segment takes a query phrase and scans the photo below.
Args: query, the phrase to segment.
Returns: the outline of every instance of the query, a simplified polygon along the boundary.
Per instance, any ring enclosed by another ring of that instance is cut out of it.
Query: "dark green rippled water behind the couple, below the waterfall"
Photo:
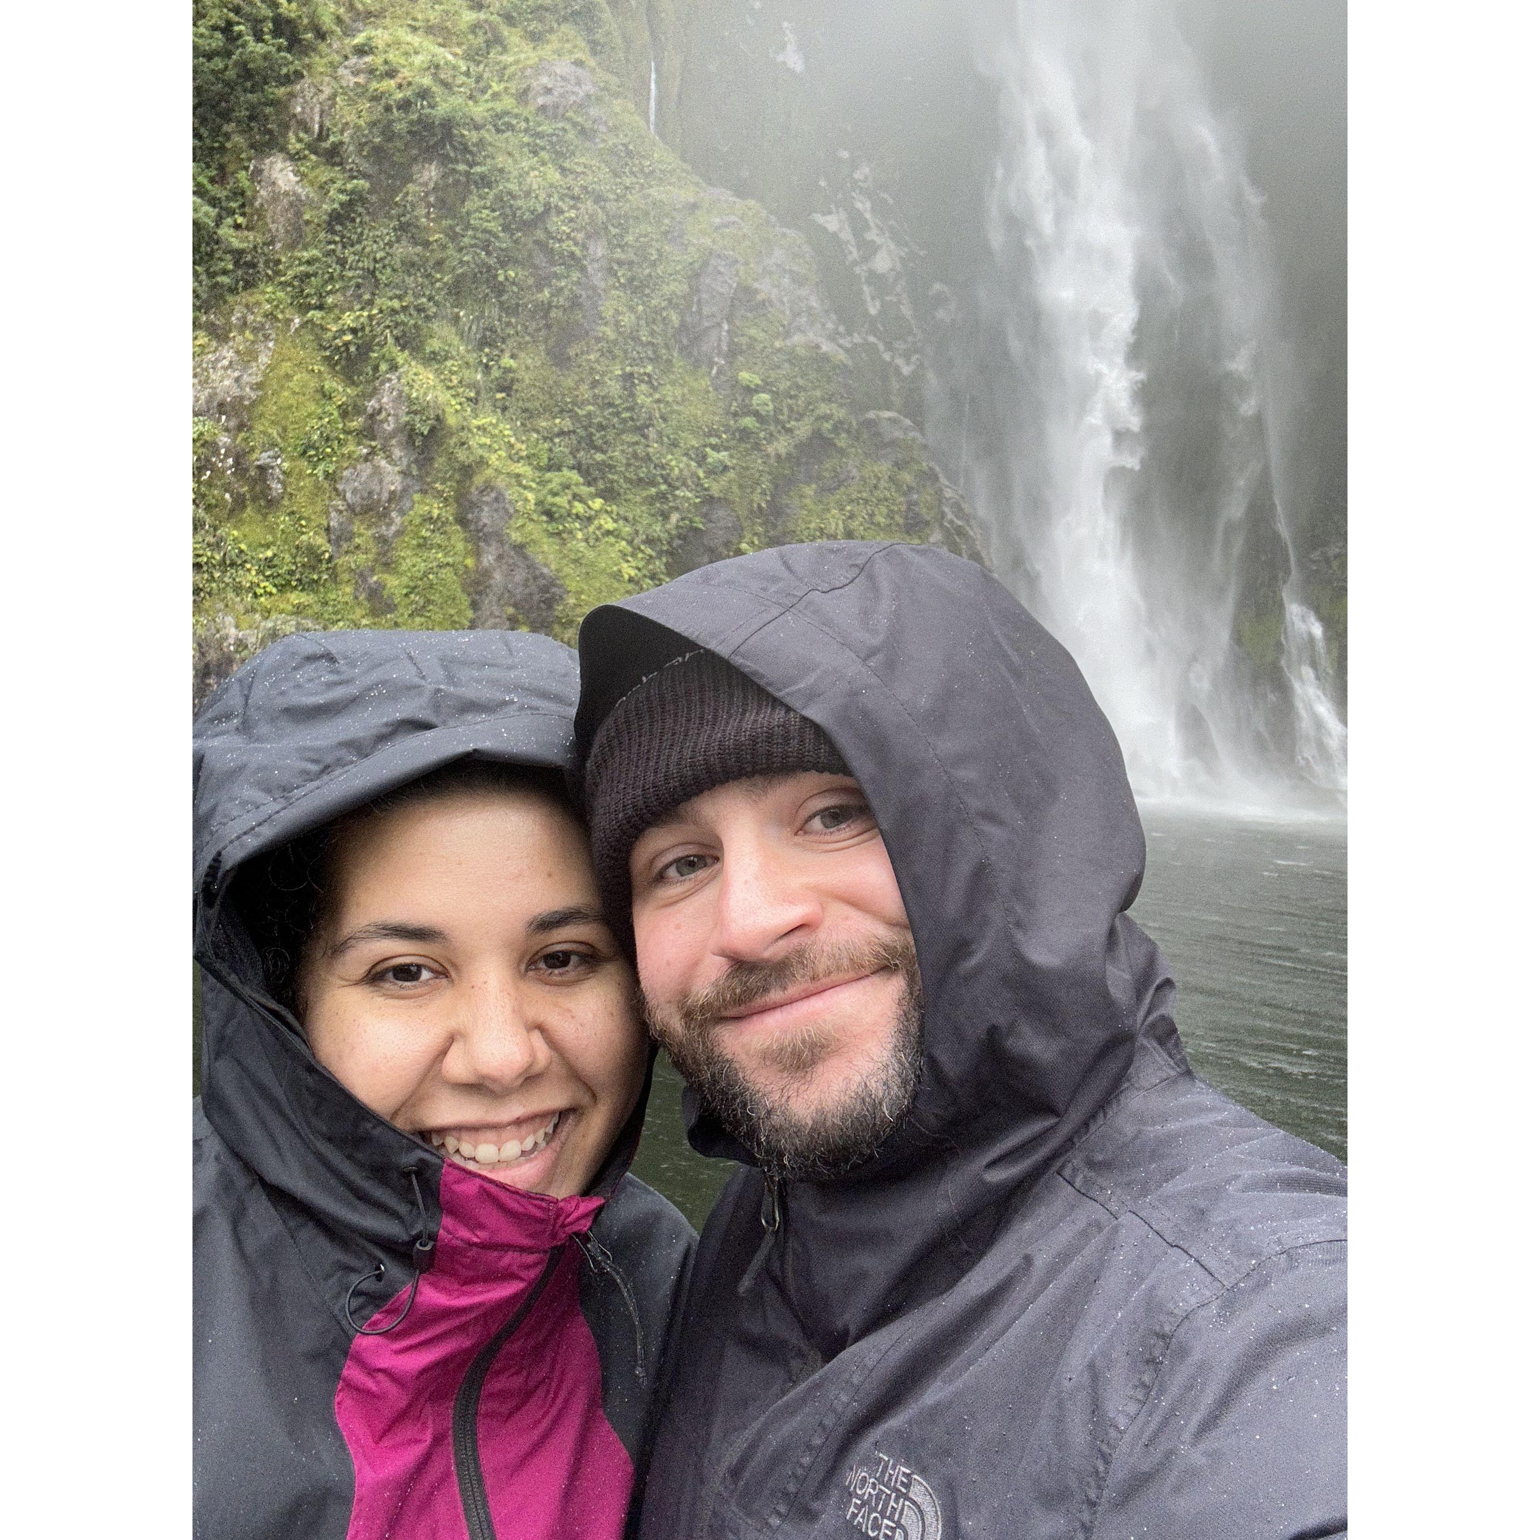
[[[1133,918],[1177,978],[1194,1069],[1243,1106],[1348,1158],[1348,842],[1341,822],[1144,810]],[[659,1058],[636,1175],[698,1229],[732,1166],[684,1140]]]

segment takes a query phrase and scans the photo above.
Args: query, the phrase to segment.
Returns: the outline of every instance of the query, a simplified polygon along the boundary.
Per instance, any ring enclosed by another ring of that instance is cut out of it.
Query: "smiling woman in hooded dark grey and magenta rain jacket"
[[[562,793],[573,653],[291,636],[194,724],[206,1540],[619,1535],[693,1235]]]

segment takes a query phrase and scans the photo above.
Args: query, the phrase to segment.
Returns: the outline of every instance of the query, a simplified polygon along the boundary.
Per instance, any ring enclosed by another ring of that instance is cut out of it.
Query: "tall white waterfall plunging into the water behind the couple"
[[[1146,798],[1338,801],[1346,727],[1287,504],[1261,199],[1157,0],[1016,0],[989,263],[936,434],[1001,578]]]

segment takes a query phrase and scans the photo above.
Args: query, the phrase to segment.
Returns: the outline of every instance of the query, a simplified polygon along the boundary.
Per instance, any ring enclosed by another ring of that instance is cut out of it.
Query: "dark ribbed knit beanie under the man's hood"
[[[849,775],[824,730],[716,653],[676,658],[624,696],[599,725],[584,768],[599,898],[631,950],[631,847],[691,796],[792,770]]]

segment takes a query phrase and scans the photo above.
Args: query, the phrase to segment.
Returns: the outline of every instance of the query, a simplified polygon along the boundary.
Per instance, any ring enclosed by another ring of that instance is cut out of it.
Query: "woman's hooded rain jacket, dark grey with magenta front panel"
[[[316,1063],[228,901],[254,856],[451,761],[565,770],[576,693],[545,636],[336,631],[194,722],[200,1537],[621,1532],[693,1243],[627,1175],[647,1089],[590,1195],[464,1170]]]

